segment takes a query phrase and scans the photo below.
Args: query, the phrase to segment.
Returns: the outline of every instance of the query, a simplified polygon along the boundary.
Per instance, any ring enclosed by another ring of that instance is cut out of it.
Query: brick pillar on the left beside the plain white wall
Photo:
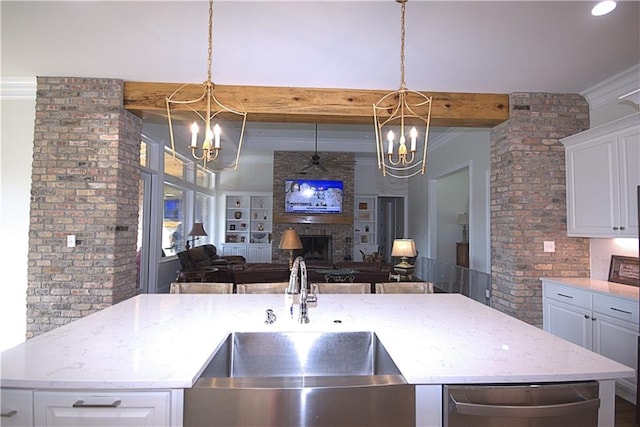
[[[141,131],[121,81],[38,78],[28,338],[134,295]]]

